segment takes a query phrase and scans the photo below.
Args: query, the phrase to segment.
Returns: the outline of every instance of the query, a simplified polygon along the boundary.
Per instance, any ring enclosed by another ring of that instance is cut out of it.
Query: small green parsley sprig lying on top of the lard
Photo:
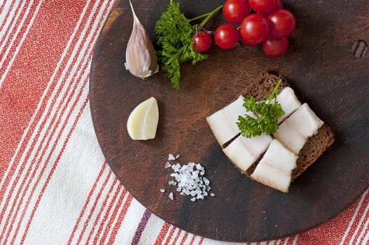
[[[281,85],[281,80],[278,81],[267,100],[263,102],[256,102],[252,96],[244,99],[244,108],[246,111],[253,112],[256,118],[249,115],[238,117],[237,126],[243,137],[251,138],[263,132],[265,134],[277,132],[278,118],[284,115],[281,104],[277,102],[279,85]]]

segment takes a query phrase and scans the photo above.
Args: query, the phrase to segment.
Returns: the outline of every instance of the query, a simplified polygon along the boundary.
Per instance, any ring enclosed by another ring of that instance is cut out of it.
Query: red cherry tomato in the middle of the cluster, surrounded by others
[[[263,15],[253,13],[244,18],[240,31],[246,43],[249,43],[249,45],[258,45],[269,36],[269,22]]]

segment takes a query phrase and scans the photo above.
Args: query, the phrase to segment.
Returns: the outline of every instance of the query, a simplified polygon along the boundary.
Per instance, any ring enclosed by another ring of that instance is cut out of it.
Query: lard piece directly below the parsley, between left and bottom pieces
[[[267,134],[251,138],[240,135],[225,147],[223,152],[242,172],[246,172],[266,151],[271,141],[272,137]]]

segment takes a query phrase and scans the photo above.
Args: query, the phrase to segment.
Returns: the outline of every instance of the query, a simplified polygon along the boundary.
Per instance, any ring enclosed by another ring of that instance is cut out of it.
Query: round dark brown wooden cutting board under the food
[[[169,1],[133,1],[155,42],[155,21]],[[192,18],[223,1],[180,1]],[[356,39],[369,41],[368,1],[284,1],[297,28],[284,57],[273,59],[260,47],[215,45],[209,59],[181,66],[181,88],[162,73],[141,80],[125,70],[132,30],[127,0],[119,1],[99,36],[90,73],[90,106],[97,139],[123,186],[154,214],[197,235],[224,241],[262,241],[313,228],[354,202],[369,183],[369,55],[351,55]],[[206,27],[215,29],[222,15]],[[279,193],[248,179],[225,157],[206,116],[234,99],[262,71],[279,71],[302,102],[335,132],[336,140],[318,161]],[[137,104],[158,99],[157,136],[132,141],[127,118]],[[181,163],[200,162],[215,197],[190,202],[167,182],[169,153]],[[87,167],[87,166],[86,166]],[[167,190],[160,193],[160,188]],[[174,201],[169,200],[174,192]]]

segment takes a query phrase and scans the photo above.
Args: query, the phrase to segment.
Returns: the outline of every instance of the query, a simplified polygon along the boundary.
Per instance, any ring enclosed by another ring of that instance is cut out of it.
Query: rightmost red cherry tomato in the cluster
[[[295,16],[286,9],[280,9],[271,13],[267,19],[270,22],[270,36],[276,38],[291,36],[295,30]]]

